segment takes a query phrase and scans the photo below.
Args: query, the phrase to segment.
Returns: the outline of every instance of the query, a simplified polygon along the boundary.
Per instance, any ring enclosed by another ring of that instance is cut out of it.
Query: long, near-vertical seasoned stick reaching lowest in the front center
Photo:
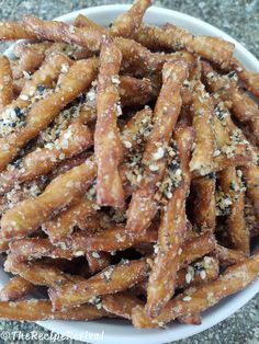
[[[176,289],[179,255],[185,240],[185,198],[190,188],[190,154],[194,140],[191,127],[178,129],[176,135],[180,156],[182,180],[172,191],[166,205],[158,229],[158,253],[155,257],[147,287],[147,312],[149,317],[159,314]]]

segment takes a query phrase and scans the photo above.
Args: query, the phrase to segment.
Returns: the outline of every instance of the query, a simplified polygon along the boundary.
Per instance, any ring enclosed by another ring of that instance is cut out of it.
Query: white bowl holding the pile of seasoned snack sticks
[[[127,11],[130,5],[113,4],[101,5],[90,9],[85,9],[69,14],[57,18],[57,20],[71,22],[75,18],[82,13],[89,16],[101,25],[109,25],[120,13]],[[236,46],[237,58],[248,68],[259,72],[259,61],[256,57],[249,53],[244,46],[241,46],[234,38],[222,32],[221,30],[199,20],[193,16],[167,10],[161,8],[151,7],[148,9],[145,19],[146,22],[156,25],[165,24],[166,22],[176,23],[179,26],[189,28],[194,34],[203,34],[211,36],[219,36],[226,41],[233,42]],[[12,57],[11,46],[5,55]],[[259,245],[257,246],[259,250]],[[0,286],[7,283],[9,276],[0,270]],[[69,337],[77,339],[91,343],[103,344],[161,344],[166,342],[177,341],[185,339],[206,329],[212,328],[218,322],[223,321],[240,307],[247,303],[257,293],[259,293],[259,280],[255,282],[245,290],[225,298],[218,305],[205,311],[202,317],[201,325],[185,325],[185,324],[169,324],[165,330],[138,330],[135,329],[130,322],[123,320],[99,320],[89,322],[72,322],[72,321],[40,321],[40,325],[47,330],[57,332]],[[102,334],[100,339],[91,337],[94,333]]]

